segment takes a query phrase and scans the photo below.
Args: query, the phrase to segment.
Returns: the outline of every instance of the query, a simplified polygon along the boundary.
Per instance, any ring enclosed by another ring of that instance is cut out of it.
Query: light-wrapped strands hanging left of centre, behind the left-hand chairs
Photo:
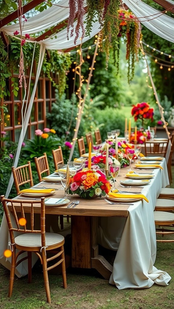
[[[83,83],[82,81],[84,81],[84,80],[83,80],[83,76],[81,77],[81,74],[79,74],[79,72],[78,72],[79,77],[81,79],[81,83],[80,83],[79,89],[78,89],[80,91],[77,91],[78,92],[78,98],[79,98],[79,104],[78,104],[78,112],[77,112],[77,119],[76,119],[76,127],[74,129],[74,136],[72,138],[72,148],[71,148],[71,151],[70,151],[70,155],[69,155],[68,161],[71,161],[72,155],[73,155],[73,152],[74,152],[74,148],[75,148],[75,144],[76,144],[76,140],[77,140],[77,135],[78,135],[79,127],[80,127],[80,121],[81,121],[81,117],[82,117],[82,114],[83,114],[83,108],[84,108],[84,105],[85,105],[85,100],[86,100],[86,97],[87,97],[87,92],[88,92],[89,84],[90,84],[90,81],[91,81],[91,77],[93,75],[92,72],[93,72],[93,68],[94,68],[94,64],[95,64],[95,58],[97,56],[98,45],[100,45],[101,40],[102,40],[102,35],[101,35],[101,33],[99,33],[98,34],[98,38],[97,38],[97,43],[96,43],[95,51],[94,51],[92,65],[90,67],[90,72],[89,72],[89,75],[88,75],[88,79],[86,80],[87,84],[86,84],[85,94],[84,94],[83,98],[81,97],[81,86],[82,86],[82,83]],[[80,54],[80,59],[81,59],[80,63],[83,63],[83,59],[81,58],[82,57],[82,52],[79,51],[79,54]],[[76,74],[77,74],[77,71],[76,71]]]

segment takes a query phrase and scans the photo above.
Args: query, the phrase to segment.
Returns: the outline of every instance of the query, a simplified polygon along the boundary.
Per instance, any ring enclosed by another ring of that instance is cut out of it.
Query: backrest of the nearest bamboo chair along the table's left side
[[[17,194],[20,192],[20,186],[23,184],[29,183],[30,187],[33,187],[33,176],[30,161],[28,161],[27,164],[18,167],[12,166],[11,170],[13,173]]]

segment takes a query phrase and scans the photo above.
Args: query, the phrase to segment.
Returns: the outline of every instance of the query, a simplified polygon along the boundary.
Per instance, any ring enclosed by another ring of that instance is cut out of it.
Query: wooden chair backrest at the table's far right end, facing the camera
[[[166,157],[167,148],[168,148],[168,141],[156,142],[156,141],[145,141],[145,155],[148,156],[150,154],[159,155],[160,157]]]

